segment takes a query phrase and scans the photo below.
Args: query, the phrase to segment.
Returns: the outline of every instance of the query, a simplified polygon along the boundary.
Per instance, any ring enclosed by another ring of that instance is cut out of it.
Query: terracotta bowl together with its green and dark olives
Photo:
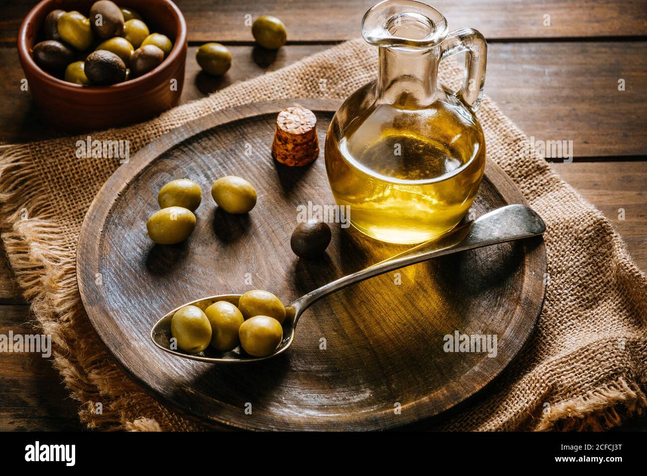
[[[171,0],[43,0],[18,32],[43,119],[78,132],[149,119],[179,103],[187,34]]]

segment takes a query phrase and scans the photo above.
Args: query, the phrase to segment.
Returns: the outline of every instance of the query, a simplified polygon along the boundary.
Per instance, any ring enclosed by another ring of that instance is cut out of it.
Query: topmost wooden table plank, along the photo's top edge
[[[20,22],[34,0],[3,6],[0,41],[15,43]],[[176,0],[190,41],[253,41],[245,15],[274,15],[287,27],[288,40],[342,41],[360,35],[360,21],[375,0]],[[642,0],[434,0],[433,6],[455,28],[472,27],[488,39],[588,38],[647,34]],[[550,25],[545,26],[545,16]]]

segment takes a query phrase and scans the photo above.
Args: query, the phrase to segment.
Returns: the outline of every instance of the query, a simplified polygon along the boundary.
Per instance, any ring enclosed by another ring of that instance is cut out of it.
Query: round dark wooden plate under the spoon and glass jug
[[[302,168],[270,155],[276,115],[295,104],[316,113],[322,149]],[[258,288],[288,303],[405,249],[340,224],[322,258],[300,260],[290,249],[298,205],[334,204],[323,142],[339,105],[280,100],[195,120],[144,147],[94,199],[77,253],[85,310],[116,361],[162,402],[244,429],[385,429],[465,400],[531,334],[545,291],[541,239],[444,256],[331,295],[305,312],[292,348],[269,361],[211,365],[153,345],[151,326],[184,302]],[[211,185],[225,175],[256,187],[248,215],[215,206]],[[159,209],[159,188],[180,177],[203,190],[197,227],[183,244],[155,245],[146,220]],[[488,161],[472,210],[509,203],[523,203],[521,193]],[[445,352],[445,336],[457,332],[496,336],[496,356]]]

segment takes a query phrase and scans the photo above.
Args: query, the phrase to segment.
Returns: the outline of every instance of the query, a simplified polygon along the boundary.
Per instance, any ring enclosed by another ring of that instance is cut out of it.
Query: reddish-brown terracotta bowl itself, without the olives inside
[[[41,27],[47,14],[60,8],[88,16],[93,3],[94,0],[43,0],[20,25],[18,55],[43,118],[56,128],[78,132],[131,124],[176,106],[184,85],[186,23],[170,0],[115,1],[141,14],[151,33],[163,33],[173,41],[170,54],[149,73],[110,86],[82,86],[58,79],[34,62],[31,50],[44,39]],[[173,84],[177,87],[171,87]]]

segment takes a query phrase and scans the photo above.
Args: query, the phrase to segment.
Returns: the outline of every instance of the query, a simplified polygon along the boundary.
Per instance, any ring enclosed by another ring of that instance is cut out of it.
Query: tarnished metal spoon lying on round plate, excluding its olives
[[[270,354],[267,357],[252,357],[243,350],[240,350],[240,346],[231,352],[217,352],[212,350],[212,348],[207,348],[199,354],[188,354],[181,350],[171,349],[171,318],[178,309],[193,304],[204,310],[206,306],[217,300],[226,300],[237,306],[238,299],[241,296],[239,294],[211,296],[182,304],[182,306],[175,308],[155,323],[151,330],[151,339],[153,339],[155,345],[160,349],[170,354],[204,362],[238,363],[258,362],[270,359],[279,354],[283,354],[292,345],[292,341],[294,341],[294,330],[296,329],[296,324],[299,322],[299,318],[307,308],[317,300],[322,299],[322,297],[339,291],[351,284],[355,284],[356,282],[382,275],[401,267],[410,266],[411,264],[417,264],[430,258],[435,258],[436,256],[450,255],[451,253],[457,253],[458,251],[465,251],[467,249],[536,236],[542,234],[545,230],[546,225],[543,223],[542,218],[531,208],[525,205],[507,205],[507,207],[492,210],[476,220],[457,227],[434,240],[422,243],[373,266],[366,267],[361,271],[329,282],[321,288],[314,289],[314,291],[303,295],[285,307],[286,317],[283,323],[283,341],[276,351],[274,351],[274,354]]]

